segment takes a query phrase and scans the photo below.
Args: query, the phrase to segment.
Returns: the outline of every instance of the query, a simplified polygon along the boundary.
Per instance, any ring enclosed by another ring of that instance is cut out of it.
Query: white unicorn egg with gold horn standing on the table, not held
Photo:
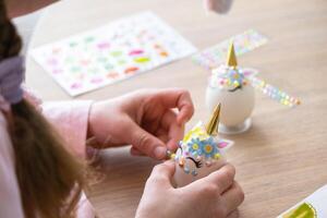
[[[231,44],[227,64],[213,70],[206,89],[206,105],[211,110],[221,102],[220,131],[243,132],[250,128],[255,105],[255,90],[243,69],[238,68]]]

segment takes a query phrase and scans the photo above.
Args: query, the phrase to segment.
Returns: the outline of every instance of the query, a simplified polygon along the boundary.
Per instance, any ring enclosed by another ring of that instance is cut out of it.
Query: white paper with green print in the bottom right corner
[[[327,185],[320,187],[277,218],[326,218]]]

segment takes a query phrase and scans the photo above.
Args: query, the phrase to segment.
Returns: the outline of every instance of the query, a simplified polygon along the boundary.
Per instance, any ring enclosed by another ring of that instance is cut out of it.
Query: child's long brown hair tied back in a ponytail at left
[[[1,63],[17,56],[22,46],[15,27],[7,16],[4,0],[0,0],[0,29]],[[15,92],[1,89],[1,84],[8,84],[5,80],[9,78],[0,76],[0,90]],[[20,84],[14,88],[20,88]],[[10,95],[7,94],[1,93],[1,97]],[[25,217],[73,217],[84,185],[82,162],[65,150],[60,136],[32,105],[21,97],[17,102],[4,100],[11,104],[4,116],[14,148]]]

